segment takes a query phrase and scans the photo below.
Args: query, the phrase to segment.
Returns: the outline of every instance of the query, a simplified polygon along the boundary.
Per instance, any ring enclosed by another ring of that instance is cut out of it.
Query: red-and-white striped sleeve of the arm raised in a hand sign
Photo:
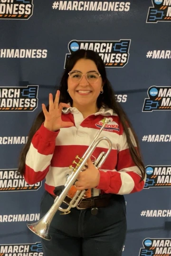
[[[26,156],[24,179],[28,184],[42,181],[49,170],[59,130],[49,131],[42,124],[34,134]]]

